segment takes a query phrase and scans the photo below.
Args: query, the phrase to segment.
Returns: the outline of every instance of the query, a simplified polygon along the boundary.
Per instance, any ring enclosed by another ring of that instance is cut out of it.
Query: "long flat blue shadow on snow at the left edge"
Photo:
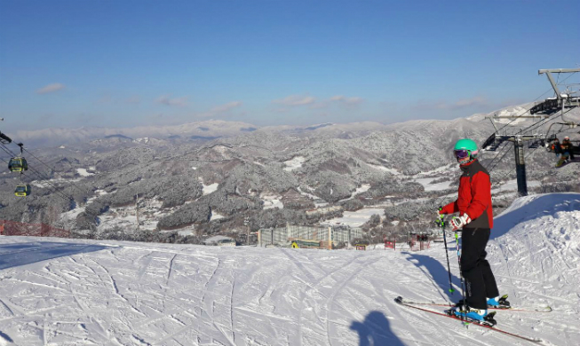
[[[0,245],[0,270],[52,258],[99,251],[107,247],[91,244],[34,241]]]

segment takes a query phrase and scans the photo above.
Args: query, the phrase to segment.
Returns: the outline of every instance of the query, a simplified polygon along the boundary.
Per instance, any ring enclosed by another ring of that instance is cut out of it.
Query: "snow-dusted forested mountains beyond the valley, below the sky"
[[[520,108],[497,113],[514,114]],[[568,119],[572,116],[579,117],[580,112],[567,114]],[[516,131],[523,123],[503,125]],[[321,220],[306,220],[306,210],[330,204],[354,211],[405,200],[433,201],[453,193],[459,171],[451,157],[452,145],[465,137],[483,143],[495,131],[479,115],[389,125],[322,123],[261,129],[209,121],[156,129],[164,138],[143,137],[151,129],[139,129],[35,150],[36,157],[49,163],[43,165],[33,157],[29,165],[34,171],[2,176],[0,218],[54,224],[75,216],[76,229],[100,232],[114,228],[115,221],[121,223],[121,216],[130,222],[135,211],[128,214],[126,207],[134,206],[139,194],[153,229],[194,224],[201,234],[227,232],[238,229],[244,217],[250,218],[253,230],[287,222],[316,223]],[[578,138],[571,130],[566,133]],[[543,147],[525,152],[530,188],[577,191],[580,177],[574,164],[553,169],[554,155]],[[481,153],[479,159],[498,185],[494,196],[513,193],[514,188],[502,188],[515,177],[511,150],[502,147]],[[79,173],[87,169],[91,175]],[[39,170],[42,174],[36,174]],[[13,196],[14,185],[20,182],[34,187],[34,196],[26,201]],[[203,193],[206,186],[214,186],[211,193]],[[274,201],[280,210],[270,208]],[[214,214],[224,217],[217,221]]]

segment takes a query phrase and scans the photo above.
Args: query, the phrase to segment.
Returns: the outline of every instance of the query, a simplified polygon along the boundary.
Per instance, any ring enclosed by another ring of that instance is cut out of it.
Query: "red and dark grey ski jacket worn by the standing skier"
[[[467,214],[472,221],[464,228],[493,228],[491,181],[487,169],[477,160],[459,168],[463,175],[459,180],[457,201],[443,207],[440,214]]]

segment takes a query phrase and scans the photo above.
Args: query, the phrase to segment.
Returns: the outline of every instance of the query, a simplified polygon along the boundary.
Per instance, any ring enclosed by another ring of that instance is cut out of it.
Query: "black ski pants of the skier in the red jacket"
[[[461,235],[461,274],[465,279],[465,301],[473,309],[487,309],[487,298],[497,297],[496,278],[485,256],[489,228],[464,228]]]

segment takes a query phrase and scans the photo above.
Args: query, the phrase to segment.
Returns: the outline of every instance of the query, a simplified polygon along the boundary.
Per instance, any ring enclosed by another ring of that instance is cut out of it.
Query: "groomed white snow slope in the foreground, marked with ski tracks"
[[[521,198],[497,217],[488,257],[500,290],[554,309],[499,311],[499,326],[578,344],[579,244],[578,193]],[[0,237],[0,345],[526,344],[393,303],[458,299],[447,280],[441,243],[411,253]]]

